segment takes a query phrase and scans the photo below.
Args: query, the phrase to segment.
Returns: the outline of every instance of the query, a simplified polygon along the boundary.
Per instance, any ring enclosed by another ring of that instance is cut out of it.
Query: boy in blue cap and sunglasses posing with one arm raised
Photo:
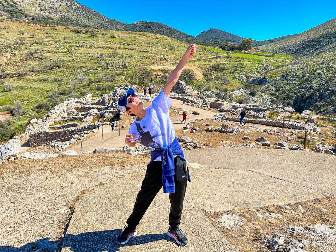
[[[171,101],[169,93],[178,80],[188,59],[196,53],[196,45],[187,47],[184,55],[167,83],[152,104],[144,108],[143,103],[128,89],[119,99],[118,105],[124,106],[126,113],[136,116],[125,137],[130,147],[141,143],[152,151],[152,158],[147,165],[141,189],[136,197],[132,214],[127,219],[124,231],[117,238],[117,243],[125,244],[137,234],[136,226],[163,186],[163,192],[169,193],[170,213],[167,235],[184,246],[188,240],[178,228],[182,216],[183,200],[189,171],[181,147],[176,139],[173,124],[169,118]]]

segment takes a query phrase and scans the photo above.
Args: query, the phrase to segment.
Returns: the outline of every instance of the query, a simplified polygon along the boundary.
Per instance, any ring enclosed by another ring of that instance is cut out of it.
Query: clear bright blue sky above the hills
[[[194,36],[217,28],[260,41],[297,34],[336,16],[335,0],[77,1],[128,24],[155,21]]]

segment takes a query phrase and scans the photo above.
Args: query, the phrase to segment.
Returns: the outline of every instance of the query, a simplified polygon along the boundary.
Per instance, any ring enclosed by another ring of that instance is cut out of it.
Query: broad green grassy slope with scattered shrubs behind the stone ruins
[[[139,66],[176,66],[185,47],[179,40],[153,33],[0,22],[0,109],[14,116],[8,125],[0,125],[0,141],[69,97],[113,92]],[[261,73],[265,66],[276,68],[290,60],[279,55],[227,55],[199,46],[188,66],[206,72],[205,79],[193,83],[195,87],[227,92],[241,85],[237,76],[242,73]],[[159,86],[171,72],[153,71]]]

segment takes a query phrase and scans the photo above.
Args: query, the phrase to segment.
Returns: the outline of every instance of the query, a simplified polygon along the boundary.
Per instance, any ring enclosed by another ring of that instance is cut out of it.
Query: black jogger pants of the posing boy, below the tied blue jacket
[[[188,181],[188,171],[185,161],[180,157],[175,157],[174,163],[175,193],[169,194],[169,225],[172,230],[178,228],[181,222],[183,200]],[[161,161],[153,161],[150,165],[147,165],[146,174],[141,184],[141,189],[136,196],[133,212],[126,221],[129,226],[137,226],[139,224],[155,196],[161,190],[161,187],[162,163]]]

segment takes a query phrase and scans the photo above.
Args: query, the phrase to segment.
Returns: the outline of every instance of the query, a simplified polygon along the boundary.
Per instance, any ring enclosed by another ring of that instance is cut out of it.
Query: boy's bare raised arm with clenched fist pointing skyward
[[[173,88],[178,78],[180,77],[183,67],[185,63],[187,62],[187,60],[190,59],[196,53],[196,47],[197,46],[195,44],[188,45],[187,50],[183,54],[180,62],[178,62],[176,68],[167,78],[167,83],[163,88],[163,92],[165,93],[166,96],[169,95],[171,89]]]

